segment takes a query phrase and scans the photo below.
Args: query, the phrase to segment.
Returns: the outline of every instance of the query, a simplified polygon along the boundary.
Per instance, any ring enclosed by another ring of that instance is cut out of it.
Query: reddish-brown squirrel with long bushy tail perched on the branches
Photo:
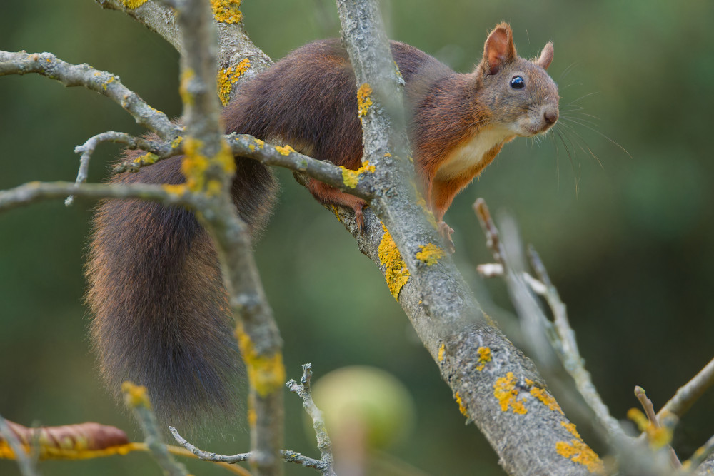
[[[458,74],[413,46],[391,42],[406,83],[414,165],[428,206],[448,238],[443,215],[456,193],[516,136],[558,120],[558,88],[545,72],[553,45],[538,59],[516,54],[508,24],[488,35],[483,58]],[[296,49],[247,81],[223,109],[226,133],[290,144],[314,158],[361,166],[362,129],[348,55],[337,39]],[[126,156],[137,156],[129,152]],[[276,182],[266,167],[236,157],[233,199],[255,235],[273,208]],[[182,183],[181,157],[159,161],[117,183]],[[318,201],[352,208],[360,198],[311,179]],[[193,213],[146,201],[104,201],[94,220],[87,301],[101,373],[119,392],[123,380],[147,385],[162,420],[180,425],[234,411],[241,372],[233,318],[216,251]]]

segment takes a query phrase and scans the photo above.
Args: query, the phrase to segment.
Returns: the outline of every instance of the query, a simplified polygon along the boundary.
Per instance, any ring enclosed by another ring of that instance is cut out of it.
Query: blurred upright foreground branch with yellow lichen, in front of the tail
[[[182,171],[191,191],[211,198],[201,221],[216,241],[236,315],[236,337],[248,370],[250,464],[257,475],[281,475],[285,369],[282,339],[253,260],[248,227],[231,199],[236,164],[218,123],[216,44],[207,0],[176,1],[181,28],[181,98],[186,136]],[[215,12],[213,12],[215,13]]]

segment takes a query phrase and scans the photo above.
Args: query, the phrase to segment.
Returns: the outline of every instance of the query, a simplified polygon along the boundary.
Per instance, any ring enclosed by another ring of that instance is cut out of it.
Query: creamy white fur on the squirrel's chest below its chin
[[[479,165],[481,168],[485,167],[488,164],[481,163],[484,161],[484,155],[511,136],[513,131],[507,128],[487,128],[479,131],[471,141],[454,148],[449,153],[446,161],[436,171],[436,179],[448,181],[463,176],[468,171],[479,170]]]

